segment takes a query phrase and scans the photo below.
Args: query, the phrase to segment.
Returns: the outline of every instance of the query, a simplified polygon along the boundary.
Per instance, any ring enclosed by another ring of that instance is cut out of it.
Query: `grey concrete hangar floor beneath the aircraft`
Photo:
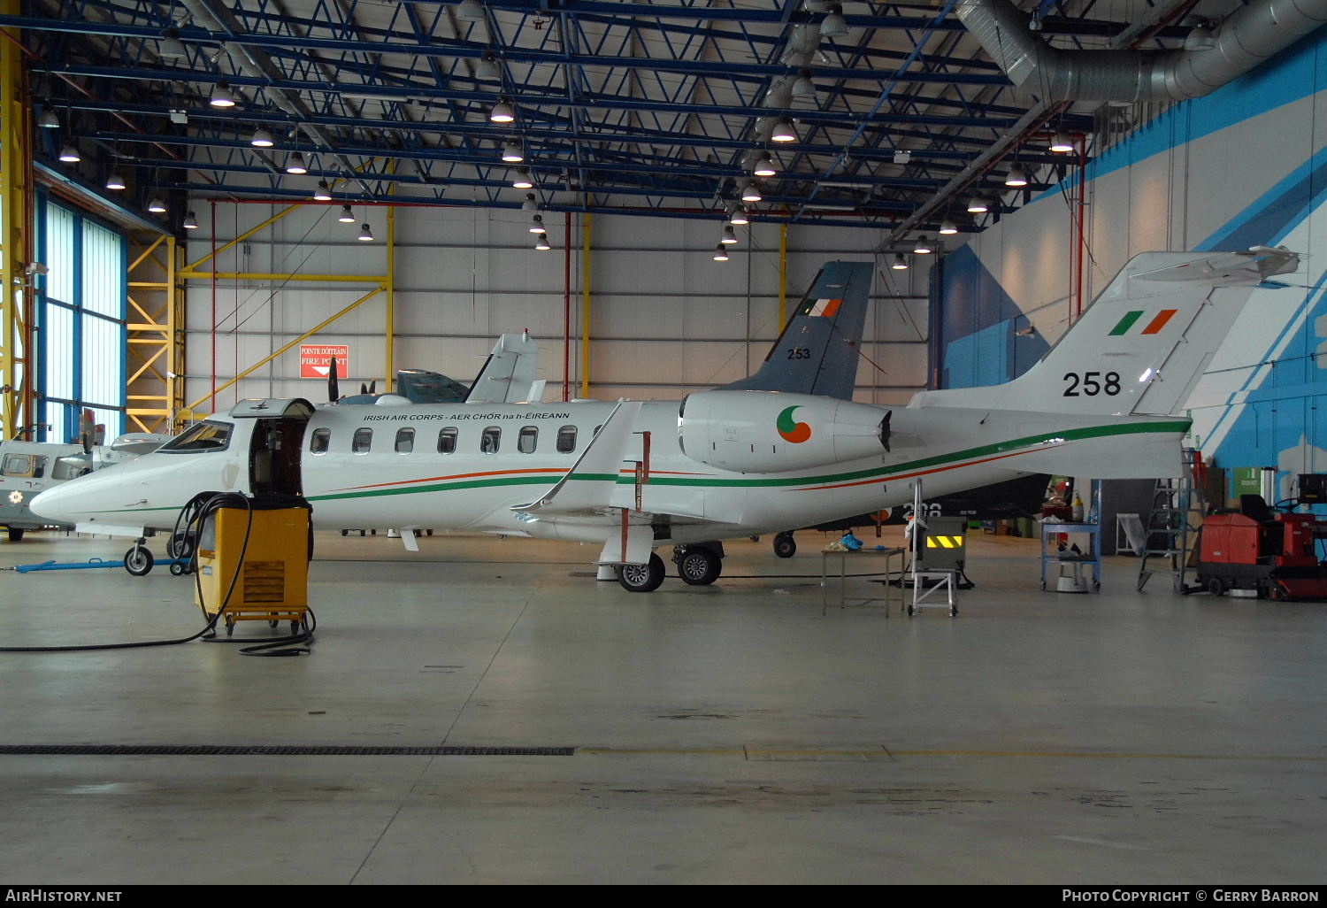
[[[318,534],[311,656],[0,653],[0,879],[1327,876],[1322,604],[1137,592],[1125,558],[1099,595],[1040,592],[1035,540],[974,534],[958,617],[821,615],[828,540],[802,534],[791,560],[733,543],[718,584],[633,595],[593,580],[588,546]],[[0,566],[123,548],[31,534]],[[190,579],[159,568],[0,591],[3,645],[200,627]]]

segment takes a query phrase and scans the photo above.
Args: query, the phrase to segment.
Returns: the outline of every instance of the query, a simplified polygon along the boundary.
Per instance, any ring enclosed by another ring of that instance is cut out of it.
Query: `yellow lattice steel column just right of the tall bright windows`
[[[183,250],[158,236],[129,263],[126,409],[130,431],[174,433],[183,402]]]

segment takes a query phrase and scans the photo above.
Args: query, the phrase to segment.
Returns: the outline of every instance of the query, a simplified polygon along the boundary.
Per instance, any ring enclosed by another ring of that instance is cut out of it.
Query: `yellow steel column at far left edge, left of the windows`
[[[19,0],[0,0],[0,12],[17,16]],[[32,390],[27,356],[32,346],[25,272],[31,243],[31,117],[25,104],[17,29],[0,35],[0,437],[31,427]]]

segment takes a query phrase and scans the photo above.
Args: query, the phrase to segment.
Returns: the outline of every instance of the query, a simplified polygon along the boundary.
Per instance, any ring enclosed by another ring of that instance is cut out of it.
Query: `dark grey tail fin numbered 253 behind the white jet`
[[[754,376],[730,390],[778,390],[852,400],[871,300],[872,262],[827,262]]]

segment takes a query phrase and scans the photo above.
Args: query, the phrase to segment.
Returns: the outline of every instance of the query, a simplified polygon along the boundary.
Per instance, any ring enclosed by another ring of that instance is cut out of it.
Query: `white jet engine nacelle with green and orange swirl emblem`
[[[760,390],[690,394],[678,413],[682,451],[736,473],[783,473],[882,454],[889,412],[832,397]]]

